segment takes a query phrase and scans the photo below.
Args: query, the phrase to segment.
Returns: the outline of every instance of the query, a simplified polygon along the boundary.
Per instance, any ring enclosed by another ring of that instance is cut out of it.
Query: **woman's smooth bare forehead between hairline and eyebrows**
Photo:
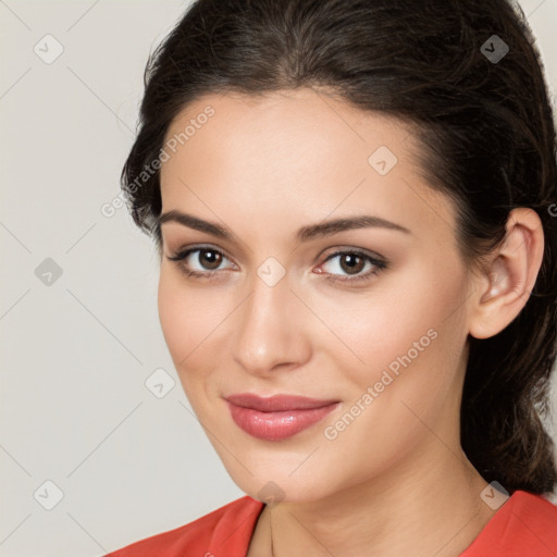
[[[366,208],[405,225],[431,222],[432,211],[451,222],[448,199],[422,177],[412,127],[322,91],[207,95],[174,119],[165,145],[172,140],[163,211],[194,209],[211,220],[234,212],[256,223],[257,210],[262,224]]]

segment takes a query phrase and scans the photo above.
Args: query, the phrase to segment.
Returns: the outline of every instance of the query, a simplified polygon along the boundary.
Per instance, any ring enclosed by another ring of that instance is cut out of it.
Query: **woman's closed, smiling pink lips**
[[[282,441],[320,422],[339,400],[320,400],[296,395],[260,397],[243,393],[225,397],[232,419],[249,435]]]

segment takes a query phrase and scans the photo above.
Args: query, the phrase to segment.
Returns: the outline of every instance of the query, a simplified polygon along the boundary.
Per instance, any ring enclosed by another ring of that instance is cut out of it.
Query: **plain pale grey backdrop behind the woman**
[[[557,0],[520,3],[555,95]],[[0,0],[0,557],[100,556],[244,495],[178,383],[151,242],[100,211],[187,5]]]

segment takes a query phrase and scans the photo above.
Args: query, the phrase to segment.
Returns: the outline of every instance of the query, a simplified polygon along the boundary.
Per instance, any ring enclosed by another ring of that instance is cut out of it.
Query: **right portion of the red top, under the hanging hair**
[[[517,491],[461,557],[554,557],[557,507],[542,495]]]

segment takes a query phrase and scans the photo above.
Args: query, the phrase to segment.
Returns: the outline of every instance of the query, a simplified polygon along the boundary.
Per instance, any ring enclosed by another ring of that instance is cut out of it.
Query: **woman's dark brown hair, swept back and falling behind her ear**
[[[506,0],[198,0],[148,61],[122,187],[160,250],[159,172],[137,177],[180,111],[206,94],[325,87],[416,126],[421,172],[455,201],[470,265],[504,239],[511,209],[534,209],[542,268],[503,332],[469,338],[461,444],[486,481],[550,492],[557,471],[542,418],[556,360],[557,170],[542,69],[524,14]]]

